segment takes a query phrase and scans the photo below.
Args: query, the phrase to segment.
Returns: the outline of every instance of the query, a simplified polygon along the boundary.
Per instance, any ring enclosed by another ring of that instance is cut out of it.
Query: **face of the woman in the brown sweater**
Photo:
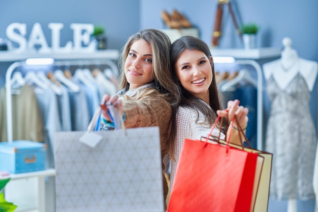
[[[152,51],[148,42],[136,40],[130,48],[124,65],[129,89],[138,88],[154,79],[152,70]]]

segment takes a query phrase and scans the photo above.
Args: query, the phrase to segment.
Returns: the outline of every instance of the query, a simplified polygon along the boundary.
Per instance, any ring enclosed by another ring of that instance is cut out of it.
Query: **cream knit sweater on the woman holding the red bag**
[[[212,110],[212,109],[211,109]],[[199,112],[198,123],[204,121],[204,116]],[[197,113],[193,109],[185,108],[180,106],[177,111],[176,117],[176,138],[174,148],[174,158],[171,160],[171,173],[170,173],[170,189],[172,189],[175,174],[177,171],[177,165],[179,157],[183,147],[184,138],[189,139],[201,139],[201,136],[207,137],[211,131],[209,124],[197,124]],[[219,130],[215,128],[212,135],[218,136]],[[225,138],[225,135],[221,133],[221,139]]]

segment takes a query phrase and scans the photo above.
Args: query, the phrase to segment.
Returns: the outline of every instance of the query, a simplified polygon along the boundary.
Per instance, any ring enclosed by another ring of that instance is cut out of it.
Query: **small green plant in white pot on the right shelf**
[[[241,31],[243,33],[244,49],[256,48],[256,35],[259,29],[260,26],[252,22],[242,25]]]

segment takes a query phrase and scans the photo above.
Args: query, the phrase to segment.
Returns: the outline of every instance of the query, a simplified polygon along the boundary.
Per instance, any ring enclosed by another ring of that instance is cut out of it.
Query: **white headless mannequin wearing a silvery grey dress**
[[[315,197],[311,178],[317,135],[309,100],[318,65],[300,58],[290,38],[282,44],[280,59],[263,65],[271,100],[265,146],[273,153],[270,195],[288,199],[288,211],[297,212],[297,199]]]

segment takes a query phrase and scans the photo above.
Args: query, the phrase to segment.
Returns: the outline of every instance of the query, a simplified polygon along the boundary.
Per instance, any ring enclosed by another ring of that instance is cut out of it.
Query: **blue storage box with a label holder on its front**
[[[45,169],[46,145],[29,140],[0,142],[0,170],[23,173]]]

